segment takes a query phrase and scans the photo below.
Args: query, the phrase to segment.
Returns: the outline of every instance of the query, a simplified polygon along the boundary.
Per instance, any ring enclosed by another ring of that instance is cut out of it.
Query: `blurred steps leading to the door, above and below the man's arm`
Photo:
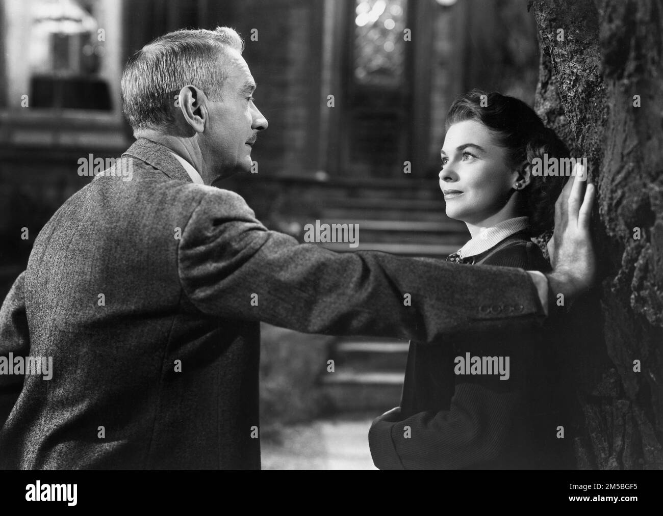
[[[320,243],[331,250],[376,250],[403,256],[446,258],[469,238],[463,223],[446,216],[437,182],[373,187],[330,187],[320,197],[320,223],[358,224],[359,246]],[[299,219],[303,227],[310,220]],[[342,337],[331,344],[333,374],[320,382],[339,411],[379,411],[398,405],[408,342]]]

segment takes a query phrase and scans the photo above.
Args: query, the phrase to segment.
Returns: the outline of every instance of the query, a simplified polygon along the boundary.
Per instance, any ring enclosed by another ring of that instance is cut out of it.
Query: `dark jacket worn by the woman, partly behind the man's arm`
[[[542,272],[550,269],[540,249],[522,233],[512,234],[471,261]],[[546,340],[545,332],[466,330],[450,333],[439,343],[410,343],[400,417],[396,422],[377,421],[369,432],[378,468],[573,467],[570,425],[564,413],[569,393],[558,381],[555,343]],[[457,374],[467,372],[463,362],[468,353],[470,362],[473,357],[502,357],[504,365],[508,356],[509,378]],[[558,425],[566,429],[564,439],[557,437]]]

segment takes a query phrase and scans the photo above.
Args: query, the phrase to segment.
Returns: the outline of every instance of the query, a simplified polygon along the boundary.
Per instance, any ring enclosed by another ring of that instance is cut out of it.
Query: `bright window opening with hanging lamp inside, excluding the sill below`
[[[7,1],[4,105],[115,109],[118,11],[113,0]]]

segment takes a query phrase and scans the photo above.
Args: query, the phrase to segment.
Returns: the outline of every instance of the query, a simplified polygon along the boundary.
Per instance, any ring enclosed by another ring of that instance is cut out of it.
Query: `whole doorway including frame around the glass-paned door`
[[[334,9],[330,83],[341,96],[330,115],[328,170],[394,180],[408,177],[408,162],[418,176],[428,145],[432,3],[343,0]]]

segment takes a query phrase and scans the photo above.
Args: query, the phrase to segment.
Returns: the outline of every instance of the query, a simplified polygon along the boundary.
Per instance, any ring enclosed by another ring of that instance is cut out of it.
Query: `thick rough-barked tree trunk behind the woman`
[[[587,158],[597,185],[597,310],[591,301],[572,308],[585,331],[565,349],[581,407],[577,462],[587,469],[660,470],[663,6],[530,0],[532,7],[541,48],[536,109],[572,156]]]

